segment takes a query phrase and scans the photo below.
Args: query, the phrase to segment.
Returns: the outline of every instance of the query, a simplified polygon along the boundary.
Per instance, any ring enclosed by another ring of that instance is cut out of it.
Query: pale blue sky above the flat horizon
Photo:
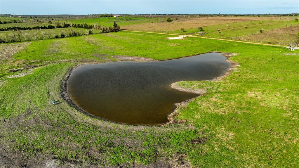
[[[0,0],[1,14],[299,13],[299,0]]]

